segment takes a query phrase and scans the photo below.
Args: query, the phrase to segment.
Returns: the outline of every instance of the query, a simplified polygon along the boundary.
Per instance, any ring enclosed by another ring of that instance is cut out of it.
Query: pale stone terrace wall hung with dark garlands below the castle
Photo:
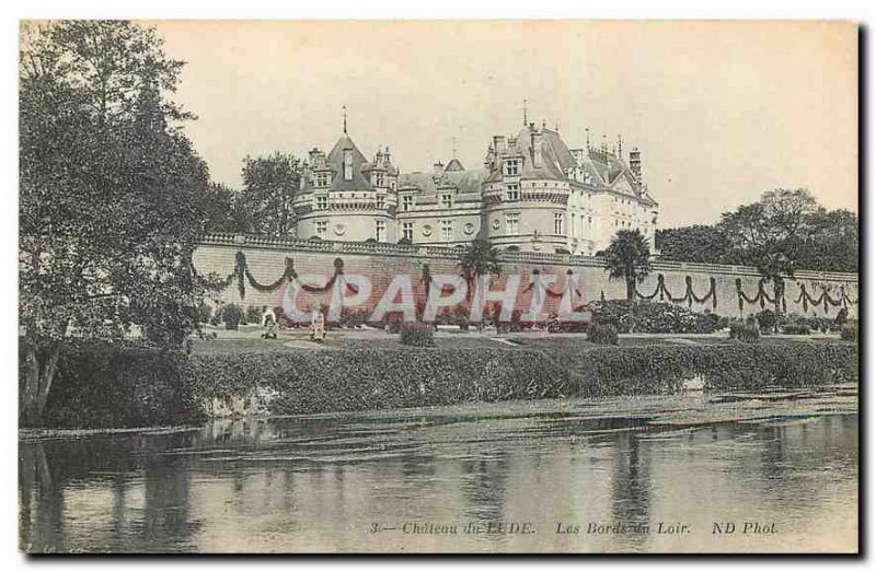
[[[425,300],[425,286],[420,282],[424,266],[433,276],[447,273],[458,275],[457,263],[459,250],[435,246],[400,246],[393,244],[367,244],[360,242],[311,242],[303,240],[275,240],[262,236],[242,236],[232,234],[214,234],[205,236],[196,248],[193,264],[201,275],[216,272],[221,278],[227,278],[235,271],[238,253],[243,253],[246,267],[251,276],[262,284],[270,284],[280,278],[286,268],[286,259],[291,258],[296,272],[303,275],[322,275],[327,280],[334,273],[334,264],[341,258],[346,275],[361,275],[371,279],[373,290],[370,299],[364,305],[367,310],[373,308],[395,275],[408,275],[414,284],[417,300]],[[562,254],[541,254],[529,252],[505,252],[502,254],[503,275],[494,279],[492,288],[495,290],[505,287],[509,275],[520,275],[520,288],[517,296],[517,308],[526,311],[530,305],[532,289],[527,291],[534,270],[544,276],[556,276],[556,281],[550,290],[562,292],[565,286],[567,271],[577,275],[577,291],[574,306],[590,301],[606,299],[623,299],[625,296],[624,283],[620,280],[610,280],[604,270],[603,260],[597,257],[573,256]],[[678,302],[690,304],[696,311],[710,310],[713,313],[727,316],[739,316],[757,313],[761,310],[760,303],[744,302],[740,311],[737,280],[740,280],[742,291],[749,298],[754,298],[760,282],[760,276],[754,268],[745,266],[723,266],[712,264],[688,264],[678,261],[655,261],[652,273],[638,286],[638,291],[649,295],[658,287],[662,277],[666,291],[673,298],[682,298],[690,278],[693,292],[698,298],[703,298],[710,291],[711,280],[715,282],[715,299],[705,300],[703,303],[688,300]],[[786,311],[789,314],[809,316],[835,316],[842,305],[825,304],[804,308],[800,299],[800,289],[804,287],[810,299],[818,299],[823,291],[832,300],[840,300],[845,294],[850,317],[857,316],[858,308],[858,277],[855,273],[832,273],[799,271],[794,279],[788,279],[785,287]],[[766,283],[764,290],[772,295],[772,284]],[[272,292],[258,291],[244,278],[244,291],[241,292],[237,279],[221,293],[221,301],[247,305],[283,305],[285,286]],[[330,295],[311,295],[302,300],[303,304],[316,302],[319,298],[325,303]],[[656,295],[655,301],[660,300]],[[558,296],[548,296],[545,311],[556,310]],[[668,301],[668,300],[667,300]],[[771,305],[766,303],[766,307]]]

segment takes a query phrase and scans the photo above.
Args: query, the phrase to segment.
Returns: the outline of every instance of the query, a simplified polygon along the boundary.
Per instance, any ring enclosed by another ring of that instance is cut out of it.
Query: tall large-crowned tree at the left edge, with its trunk
[[[71,336],[162,347],[196,330],[207,168],[169,100],[182,63],[123,21],[26,25],[20,59],[22,415],[38,420]]]

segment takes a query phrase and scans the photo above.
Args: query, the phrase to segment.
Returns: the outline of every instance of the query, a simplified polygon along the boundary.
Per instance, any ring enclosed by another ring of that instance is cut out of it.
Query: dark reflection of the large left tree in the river
[[[44,550],[161,550],[185,544],[188,523],[188,470],[185,455],[162,454],[187,447],[188,433],[105,436],[80,441],[46,441],[20,446],[20,491],[23,547]],[[145,505],[140,513],[128,505],[130,477],[142,470]],[[108,527],[83,537],[66,537],[65,490],[107,490]],[[36,502],[31,499],[36,498]],[[35,515],[34,515],[35,514]],[[71,541],[74,541],[73,545]]]

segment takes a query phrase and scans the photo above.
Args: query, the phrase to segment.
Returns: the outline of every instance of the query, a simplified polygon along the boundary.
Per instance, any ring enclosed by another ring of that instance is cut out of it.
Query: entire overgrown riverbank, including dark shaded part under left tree
[[[811,387],[856,382],[858,348],[837,339],[459,336],[435,348],[396,339],[286,348],[263,341],[189,356],[79,346],[59,362],[39,428],[176,426],[211,416],[283,416],[495,403]],[[465,339],[465,341],[463,341]],[[247,347],[247,345],[250,345]],[[308,347],[313,347],[309,349]]]

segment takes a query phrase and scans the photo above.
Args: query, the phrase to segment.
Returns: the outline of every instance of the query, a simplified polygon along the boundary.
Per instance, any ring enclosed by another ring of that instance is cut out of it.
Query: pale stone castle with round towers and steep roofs
[[[295,199],[299,238],[464,246],[593,255],[620,230],[654,245],[659,205],[642,177],[641,154],[569,149],[558,129],[527,124],[493,137],[482,166],[453,158],[431,172],[400,173],[389,148],[368,160],[346,127],[327,154],[309,153]]]

